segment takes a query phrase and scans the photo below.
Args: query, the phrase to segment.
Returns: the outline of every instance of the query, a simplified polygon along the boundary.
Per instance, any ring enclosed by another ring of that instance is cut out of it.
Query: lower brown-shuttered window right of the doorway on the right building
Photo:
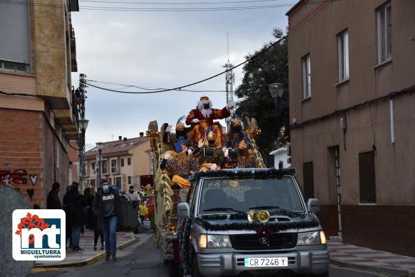
[[[360,202],[376,203],[374,151],[359,154]]]

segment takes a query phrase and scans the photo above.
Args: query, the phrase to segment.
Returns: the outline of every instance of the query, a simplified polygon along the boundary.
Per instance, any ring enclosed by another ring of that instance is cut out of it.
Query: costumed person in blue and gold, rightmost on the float
[[[230,157],[230,149],[238,150],[237,157]],[[235,115],[230,127],[230,133],[225,137],[222,150],[225,156],[225,168],[238,167],[246,169],[255,167],[255,160],[252,159],[251,145],[248,136],[243,132],[242,119],[238,115]]]

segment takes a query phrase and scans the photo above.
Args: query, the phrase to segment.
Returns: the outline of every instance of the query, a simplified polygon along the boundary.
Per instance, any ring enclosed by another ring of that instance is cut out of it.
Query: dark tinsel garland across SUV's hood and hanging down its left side
[[[319,227],[320,221],[314,213],[288,211],[284,209],[270,210],[270,216],[288,216],[291,222],[248,222],[247,213],[231,213],[227,215],[209,215],[200,218],[181,218],[177,225],[177,238],[180,245],[180,260],[184,274],[190,274],[190,230],[196,224],[208,231],[250,230],[257,233],[273,233],[286,229],[302,229]],[[221,220],[220,223],[212,223]],[[226,222],[226,220],[244,220],[243,222]],[[246,220],[246,221],[245,221]]]

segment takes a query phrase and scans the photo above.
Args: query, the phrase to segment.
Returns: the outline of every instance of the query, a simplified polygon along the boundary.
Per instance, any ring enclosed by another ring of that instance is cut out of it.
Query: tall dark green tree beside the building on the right
[[[284,37],[284,32],[275,28],[273,36],[276,40],[281,39]],[[246,56],[248,59],[262,52],[243,66],[242,84],[235,92],[240,99],[237,114],[243,117],[255,117],[262,130],[255,140],[263,155],[279,146],[279,129],[282,126],[286,127],[286,135],[289,133],[288,91],[284,93],[277,108],[268,88],[269,84],[277,82],[288,88],[287,39],[283,39],[279,44],[263,52],[275,41],[264,44],[260,50]]]

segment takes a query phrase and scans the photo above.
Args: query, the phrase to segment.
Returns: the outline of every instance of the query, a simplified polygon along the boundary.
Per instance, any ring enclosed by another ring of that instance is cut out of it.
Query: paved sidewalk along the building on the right
[[[330,252],[330,262],[333,265],[394,276],[415,276],[415,258],[330,240],[327,246]]]

